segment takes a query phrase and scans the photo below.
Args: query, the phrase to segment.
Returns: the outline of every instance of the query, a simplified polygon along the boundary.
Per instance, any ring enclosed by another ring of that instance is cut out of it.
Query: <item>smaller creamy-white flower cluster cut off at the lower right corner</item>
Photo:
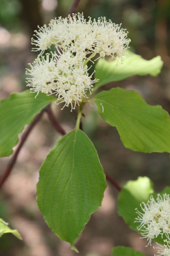
[[[143,205],[142,205],[143,204]],[[158,194],[158,198],[154,199],[153,196],[150,196],[147,204],[142,203],[141,208],[143,213],[137,213],[139,216],[135,218],[135,222],[140,222],[141,224],[138,226],[138,230],[141,230],[142,235],[147,238],[148,244],[151,245],[151,240],[159,236],[165,234],[167,238],[164,240],[167,245],[161,246],[158,251],[158,255],[170,256],[170,197],[167,194],[164,194],[163,197]]]

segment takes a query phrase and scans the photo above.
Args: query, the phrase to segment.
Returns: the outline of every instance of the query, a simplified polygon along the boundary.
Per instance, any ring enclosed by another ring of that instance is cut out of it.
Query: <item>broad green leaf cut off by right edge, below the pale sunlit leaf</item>
[[[92,98],[105,122],[116,126],[125,147],[141,152],[170,152],[170,119],[161,106],[146,104],[133,90],[112,88]]]

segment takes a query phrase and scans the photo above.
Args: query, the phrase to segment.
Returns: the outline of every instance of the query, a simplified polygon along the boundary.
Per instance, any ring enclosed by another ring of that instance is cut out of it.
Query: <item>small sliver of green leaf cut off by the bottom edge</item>
[[[140,251],[135,251],[129,247],[117,246],[112,250],[112,256],[145,256]]]

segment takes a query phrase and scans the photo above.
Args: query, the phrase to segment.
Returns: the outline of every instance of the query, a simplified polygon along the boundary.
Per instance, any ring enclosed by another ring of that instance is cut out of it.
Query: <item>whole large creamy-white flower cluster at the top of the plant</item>
[[[128,32],[105,18],[97,21],[91,18],[84,19],[83,14],[73,14],[67,18],[51,20],[49,26],[44,26],[36,31],[32,44],[36,47],[33,51],[44,51],[52,44],[58,53],[45,57],[37,57],[27,75],[31,76],[28,86],[37,94],[41,91],[46,94],[55,94],[57,104],[65,102],[64,106],[71,104],[71,110],[76,104],[87,97],[86,93],[93,89],[97,80],[92,80],[88,74],[87,62],[96,54],[99,57],[117,55],[122,61],[123,55],[128,55],[125,50],[129,47]],[[60,51],[58,50],[60,48]],[[99,59],[97,57],[97,59]],[[96,60],[97,60],[96,59]],[[93,62],[93,61],[92,61]]]

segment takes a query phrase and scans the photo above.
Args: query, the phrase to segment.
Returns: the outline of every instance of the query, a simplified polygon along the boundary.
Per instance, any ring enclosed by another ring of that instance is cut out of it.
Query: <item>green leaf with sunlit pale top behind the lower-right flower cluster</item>
[[[166,187],[160,195],[164,193],[170,194],[170,187]],[[138,222],[134,222],[135,218],[138,217],[135,209],[138,208],[139,212],[142,212],[140,204],[142,202],[147,203],[150,195],[153,195],[155,199],[157,197],[152,181],[148,177],[138,177],[137,180],[130,180],[122,188],[118,197],[118,214],[124,218],[131,229],[137,231],[137,226],[139,226]],[[155,238],[154,241],[164,243],[161,235]]]

